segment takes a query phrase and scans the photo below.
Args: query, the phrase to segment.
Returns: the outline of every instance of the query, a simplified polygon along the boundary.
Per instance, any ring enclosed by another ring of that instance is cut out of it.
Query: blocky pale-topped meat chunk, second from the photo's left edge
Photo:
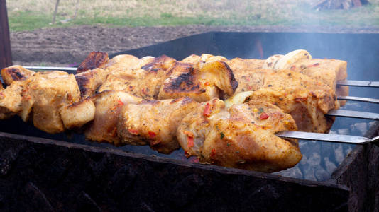
[[[50,134],[64,131],[60,108],[80,98],[75,76],[64,71],[35,73],[22,95],[23,120],[31,112],[34,126]]]

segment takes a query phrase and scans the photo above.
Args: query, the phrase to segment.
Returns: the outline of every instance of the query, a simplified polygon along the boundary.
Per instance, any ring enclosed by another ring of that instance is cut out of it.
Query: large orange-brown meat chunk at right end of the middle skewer
[[[334,119],[324,114],[339,108],[339,103],[324,83],[291,70],[238,69],[234,73],[240,91],[252,90],[253,100],[270,102],[291,114],[300,131],[324,133],[331,128]]]

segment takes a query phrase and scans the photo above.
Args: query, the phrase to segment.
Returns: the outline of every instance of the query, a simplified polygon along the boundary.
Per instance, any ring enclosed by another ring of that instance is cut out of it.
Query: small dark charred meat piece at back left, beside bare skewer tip
[[[108,53],[106,52],[91,52],[82,61],[82,63],[77,67],[77,73],[82,73],[84,71],[104,68],[109,61]]]

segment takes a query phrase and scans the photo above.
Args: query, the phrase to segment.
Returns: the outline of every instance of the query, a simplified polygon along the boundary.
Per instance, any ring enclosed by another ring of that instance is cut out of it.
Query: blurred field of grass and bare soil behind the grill
[[[378,33],[379,0],[11,0],[13,64],[74,66],[207,31]]]

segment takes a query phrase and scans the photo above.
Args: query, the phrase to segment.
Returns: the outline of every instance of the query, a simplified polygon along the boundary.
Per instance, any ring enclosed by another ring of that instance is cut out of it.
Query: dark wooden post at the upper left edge
[[[9,39],[6,0],[0,0],[0,69],[12,65],[11,40]]]

